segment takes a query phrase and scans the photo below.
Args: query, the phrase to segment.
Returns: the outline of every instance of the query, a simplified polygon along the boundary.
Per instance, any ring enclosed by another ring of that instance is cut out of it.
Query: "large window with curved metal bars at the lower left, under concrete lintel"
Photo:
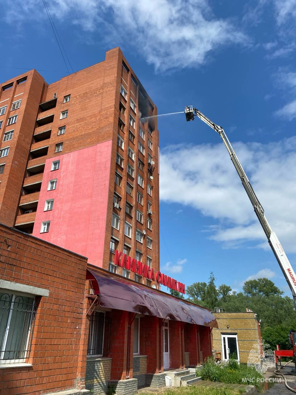
[[[0,292],[0,309],[0,362],[24,362],[30,354],[35,299]]]

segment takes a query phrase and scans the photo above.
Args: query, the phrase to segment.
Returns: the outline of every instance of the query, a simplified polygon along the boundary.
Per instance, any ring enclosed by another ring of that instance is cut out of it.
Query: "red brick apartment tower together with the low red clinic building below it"
[[[211,354],[210,311],[159,290],[184,293],[159,271],[156,114],[119,48],[0,85],[1,395],[129,395]]]

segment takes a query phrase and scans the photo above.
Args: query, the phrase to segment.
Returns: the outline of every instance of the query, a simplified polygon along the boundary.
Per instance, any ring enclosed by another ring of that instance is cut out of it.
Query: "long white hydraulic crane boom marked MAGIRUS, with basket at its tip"
[[[264,210],[263,207],[260,204],[260,201],[258,200],[250,182],[245,174],[244,169],[242,168],[242,165],[240,164],[240,161],[238,160],[238,157],[236,156],[236,153],[234,152],[230,141],[225,134],[223,128],[221,126],[216,125],[214,122],[212,122],[208,117],[206,117],[204,114],[202,114],[198,109],[193,108],[192,106],[186,106],[185,107],[185,115],[186,115],[186,120],[191,121],[194,120],[194,117],[199,117],[202,121],[204,121],[208,126],[210,126],[212,129],[217,132],[229,155],[232,163],[234,164],[234,167],[236,168],[236,171],[238,172],[238,175],[240,176],[240,179],[242,181],[242,184],[245,188],[245,191],[247,192],[247,195],[254,207],[254,211],[259,219],[259,222],[264,230],[264,233],[266,234],[266,237],[268,239],[268,243],[270,244],[272,251],[274,252],[275,258],[277,259],[279,266],[281,267],[281,270],[287,280],[287,283],[290,287],[290,290],[293,295],[294,299],[294,304],[296,308],[296,275],[294,273],[294,270],[292,269],[292,266],[289,262],[289,259],[287,258],[285,251],[283,250],[283,247],[281,246],[281,243],[279,242],[279,239],[277,238],[277,235],[275,234],[274,231],[270,228],[270,225],[268,224],[268,221],[264,215]]]

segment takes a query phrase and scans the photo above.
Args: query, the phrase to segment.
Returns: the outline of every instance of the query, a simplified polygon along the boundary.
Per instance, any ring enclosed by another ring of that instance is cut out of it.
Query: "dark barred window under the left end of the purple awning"
[[[104,331],[105,313],[101,311],[94,311],[90,316],[87,355],[103,355]]]

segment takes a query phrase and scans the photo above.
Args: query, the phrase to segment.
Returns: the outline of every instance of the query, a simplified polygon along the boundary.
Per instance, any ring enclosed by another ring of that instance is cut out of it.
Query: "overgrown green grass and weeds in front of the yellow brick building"
[[[234,359],[229,359],[228,363],[215,363],[213,357],[208,357],[202,365],[202,370],[196,372],[202,380],[216,381],[227,384],[251,384],[261,390],[263,384],[257,382],[257,378],[262,378],[255,368],[238,365]],[[247,378],[246,382],[243,379]],[[253,380],[254,379],[254,380]]]

